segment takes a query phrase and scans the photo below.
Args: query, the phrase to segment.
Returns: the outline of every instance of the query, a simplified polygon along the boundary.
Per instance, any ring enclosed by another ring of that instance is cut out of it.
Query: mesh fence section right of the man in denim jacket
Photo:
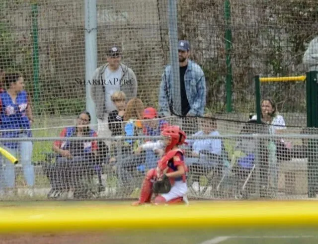
[[[223,118],[236,119],[238,114],[254,111],[255,75],[299,76],[316,64],[311,55],[304,57],[306,50],[315,52],[308,44],[316,37],[312,31],[317,22],[316,1],[178,3],[178,38],[189,41],[190,59],[204,71],[206,108],[223,113]],[[280,111],[304,110],[304,83],[276,82],[263,89],[264,95],[277,101]],[[225,113],[230,111],[234,113]]]

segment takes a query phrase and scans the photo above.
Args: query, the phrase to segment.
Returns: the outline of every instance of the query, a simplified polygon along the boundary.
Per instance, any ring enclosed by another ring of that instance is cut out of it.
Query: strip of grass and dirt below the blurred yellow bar
[[[282,233],[286,233],[283,235]],[[296,234],[297,233],[297,234]],[[256,234],[256,236],[255,236]],[[5,244],[316,244],[315,230],[295,231],[113,231],[2,235]]]

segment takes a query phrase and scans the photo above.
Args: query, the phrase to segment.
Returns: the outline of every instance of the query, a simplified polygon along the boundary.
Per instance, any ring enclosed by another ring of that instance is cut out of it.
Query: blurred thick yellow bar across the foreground
[[[45,204],[44,204],[45,205]],[[318,227],[316,201],[210,201],[190,205],[1,207],[0,232]]]

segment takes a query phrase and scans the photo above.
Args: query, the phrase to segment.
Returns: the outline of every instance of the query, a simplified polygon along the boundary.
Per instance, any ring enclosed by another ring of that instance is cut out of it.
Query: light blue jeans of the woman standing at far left
[[[20,137],[27,137],[26,135],[20,135]],[[10,154],[17,157],[19,154],[19,163],[21,163],[23,168],[24,178],[28,186],[34,186],[34,168],[32,165],[32,150],[33,144],[31,141],[23,141],[18,143],[18,148],[11,149],[4,147]],[[8,188],[13,188],[15,183],[15,171],[14,164],[8,161],[6,158],[0,156],[0,161],[3,159],[5,169],[3,170],[4,183]]]

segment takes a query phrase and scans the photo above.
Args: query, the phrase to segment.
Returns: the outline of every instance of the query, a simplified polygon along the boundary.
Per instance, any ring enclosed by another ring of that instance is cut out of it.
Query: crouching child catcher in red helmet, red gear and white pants
[[[168,126],[162,131],[164,137],[164,155],[158,161],[157,168],[150,169],[144,178],[140,198],[133,205],[150,203],[155,194],[155,204],[187,202],[186,172],[184,152],[179,148],[186,144],[185,133],[178,126]]]

